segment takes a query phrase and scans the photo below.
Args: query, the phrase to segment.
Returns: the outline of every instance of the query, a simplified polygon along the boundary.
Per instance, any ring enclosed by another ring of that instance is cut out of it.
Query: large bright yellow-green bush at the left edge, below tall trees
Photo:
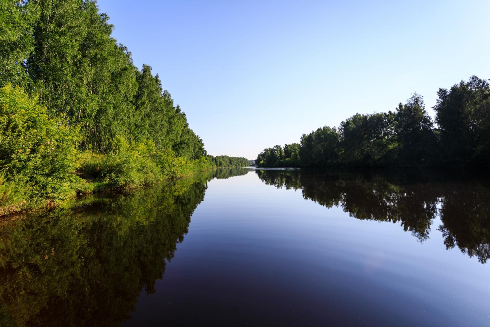
[[[71,174],[77,141],[76,128],[50,119],[37,98],[19,87],[0,88],[0,169],[29,203],[64,201],[74,194],[80,182]]]

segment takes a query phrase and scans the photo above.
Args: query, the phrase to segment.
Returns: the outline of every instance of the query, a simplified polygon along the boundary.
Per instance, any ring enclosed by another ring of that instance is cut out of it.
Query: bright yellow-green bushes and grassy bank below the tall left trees
[[[207,155],[202,142],[184,138],[194,135],[185,134],[185,128],[167,143],[116,135],[103,151],[87,144],[80,129],[66,118],[50,117],[46,106],[22,88],[0,88],[0,215],[56,206],[77,194],[248,166],[245,158]]]

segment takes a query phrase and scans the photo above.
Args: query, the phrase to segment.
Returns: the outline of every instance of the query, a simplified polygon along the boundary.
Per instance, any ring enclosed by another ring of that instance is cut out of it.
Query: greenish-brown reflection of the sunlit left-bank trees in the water
[[[207,181],[222,168],[130,194],[0,221],[0,326],[119,326],[155,292]]]

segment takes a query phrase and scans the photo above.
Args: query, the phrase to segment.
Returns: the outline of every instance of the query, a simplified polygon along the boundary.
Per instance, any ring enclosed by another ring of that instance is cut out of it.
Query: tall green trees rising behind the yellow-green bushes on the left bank
[[[123,137],[184,159],[206,155],[158,75],[148,65],[139,71],[111,36],[95,0],[1,0],[1,7],[0,85],[23,85],[51,117],[79,126],[80,149],[110,153]]]

